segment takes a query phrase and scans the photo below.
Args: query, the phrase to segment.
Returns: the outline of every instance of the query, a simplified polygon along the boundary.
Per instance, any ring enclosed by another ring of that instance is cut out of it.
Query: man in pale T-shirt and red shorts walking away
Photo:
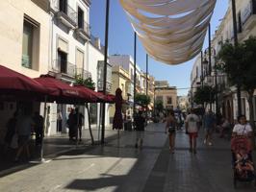
[[[185,121],[186,133],[190,136],[190,152],[196,154],[196,138],[198,136],[199,129],[199,117],[194,114],[193,108],[191,114],[189,114]]]

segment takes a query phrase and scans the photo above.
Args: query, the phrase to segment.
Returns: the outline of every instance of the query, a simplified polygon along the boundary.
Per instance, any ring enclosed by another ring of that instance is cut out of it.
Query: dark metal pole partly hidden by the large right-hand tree
[[[231,2],[232,2],[233,28],[234,28],[234,43],[235,43],[235,46],[238,46],[239,42],[238,42],[236,1],[232,0]],[[237,99],[238,99],[238,115],[240,116],[242,114],[242,106],[241,106],[241,84],[239,80],[237,82]]]

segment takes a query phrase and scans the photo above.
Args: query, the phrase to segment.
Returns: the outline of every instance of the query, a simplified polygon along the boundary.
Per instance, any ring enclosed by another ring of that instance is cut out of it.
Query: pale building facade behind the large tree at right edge
[[[236,0],[236,15],[238,27],[238,40],[242,42],[249,36],[256,36],[256,1],[255,0]],[[229,8],[223,17],[218,30],[212,40],[213,53],[218,55],[221,45],[226,41],[234,42],[232,5],[229,1]],[[214,56],[213,54],[213,56]],[[215,57],[212,63],[215,63]],[[228,84],[225,74],[218,73],[218,107],[220,111],[230,120],[233,121],[238,115],[238,101],[236,86]],[[242,91],[242,113],[249,119],[249,107],[247,103],[246,91]],[[256,107],[256,97],[253,99],[254,108]],[[256,111],[252,111],[256,119]]]

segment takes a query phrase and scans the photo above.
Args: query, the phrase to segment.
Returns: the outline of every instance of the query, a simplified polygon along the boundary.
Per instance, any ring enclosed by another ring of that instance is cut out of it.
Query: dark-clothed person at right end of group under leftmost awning
[[[36,132],[36,146],[40,146],[43,137],[43,117],[39,114],[38,111],[36,111],[33,120],[35,123],[34,130]]]

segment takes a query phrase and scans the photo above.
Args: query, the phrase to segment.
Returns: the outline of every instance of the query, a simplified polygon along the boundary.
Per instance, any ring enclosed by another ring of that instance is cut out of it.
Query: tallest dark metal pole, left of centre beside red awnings
[[[104,70],[103,70],[103,94],[106,95],[107,82],[107,59],[108,59],[108,43],[109,43],[109,11],[110,0],[106,1],[106,24],[105,24],[105,50],[104,50]],[[102,122],[101,122],[101,144],[104,144],[105,138],[105,103],[102,104]]]

